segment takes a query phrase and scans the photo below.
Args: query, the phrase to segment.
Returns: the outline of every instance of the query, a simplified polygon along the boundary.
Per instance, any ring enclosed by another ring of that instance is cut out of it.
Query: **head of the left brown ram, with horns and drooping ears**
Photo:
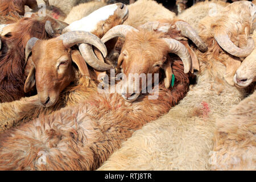
[[[106,56],[105,44],[90,32],[72,31],[49,40],[31,38],[26,46],[26,60],[32,60],[32,67],[24,92],[29,92],[36,85],[40,102],[49,107],[57,102],[63,89],[75,79],[72,63],[76,64],[81,75],[89,76],[80,52],[72,49],[80,43],[92,44]]]

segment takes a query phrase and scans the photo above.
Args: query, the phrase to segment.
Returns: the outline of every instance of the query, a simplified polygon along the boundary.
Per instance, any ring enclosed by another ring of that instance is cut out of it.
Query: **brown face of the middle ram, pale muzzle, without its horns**
[[[147,88],[147,75],[159,73],[167,60],[168,46],[154,32],[130,32],[126,36],[121,55],[118,58],[118,67],[121,67],[126,79],[122,83],[122,97],[127,101],[135,101]],[[140,76],[136,80],[134,76]],[[142,77],[146,78],[143,81]]]

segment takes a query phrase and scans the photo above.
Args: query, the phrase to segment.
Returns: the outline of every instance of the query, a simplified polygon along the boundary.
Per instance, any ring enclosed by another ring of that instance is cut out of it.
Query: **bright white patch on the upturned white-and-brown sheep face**
[[[117,10],[117,5],[108,5],[101,7],[100,9],[93,11],[93,13],[85,16],[84,18],[71,23],[67,29],[68,31],[88,31],[93,32],[96,30],[97,23],[101,20],[106,20],[109,16],[113,15]]]

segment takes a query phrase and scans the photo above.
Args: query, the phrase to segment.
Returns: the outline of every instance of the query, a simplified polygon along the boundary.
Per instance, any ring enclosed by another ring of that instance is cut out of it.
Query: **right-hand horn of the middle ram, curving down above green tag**
[[[191,68],[191,57],[188,49],[179,41],[170,38],[162,38],[169,47],[169,52],[175,53],[180,57],[184,65],[184,73],[188,73]]]

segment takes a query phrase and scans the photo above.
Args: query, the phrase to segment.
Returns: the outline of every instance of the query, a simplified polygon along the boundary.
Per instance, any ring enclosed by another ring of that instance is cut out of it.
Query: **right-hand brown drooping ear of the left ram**
[[[84,58],[82,57],[81,53],[78,50],[71,51],[71,59],[79,68],[79,71],[81,72],[82,76],[90,77],[90,73],[89,73],[87,64],[86,64]]]

